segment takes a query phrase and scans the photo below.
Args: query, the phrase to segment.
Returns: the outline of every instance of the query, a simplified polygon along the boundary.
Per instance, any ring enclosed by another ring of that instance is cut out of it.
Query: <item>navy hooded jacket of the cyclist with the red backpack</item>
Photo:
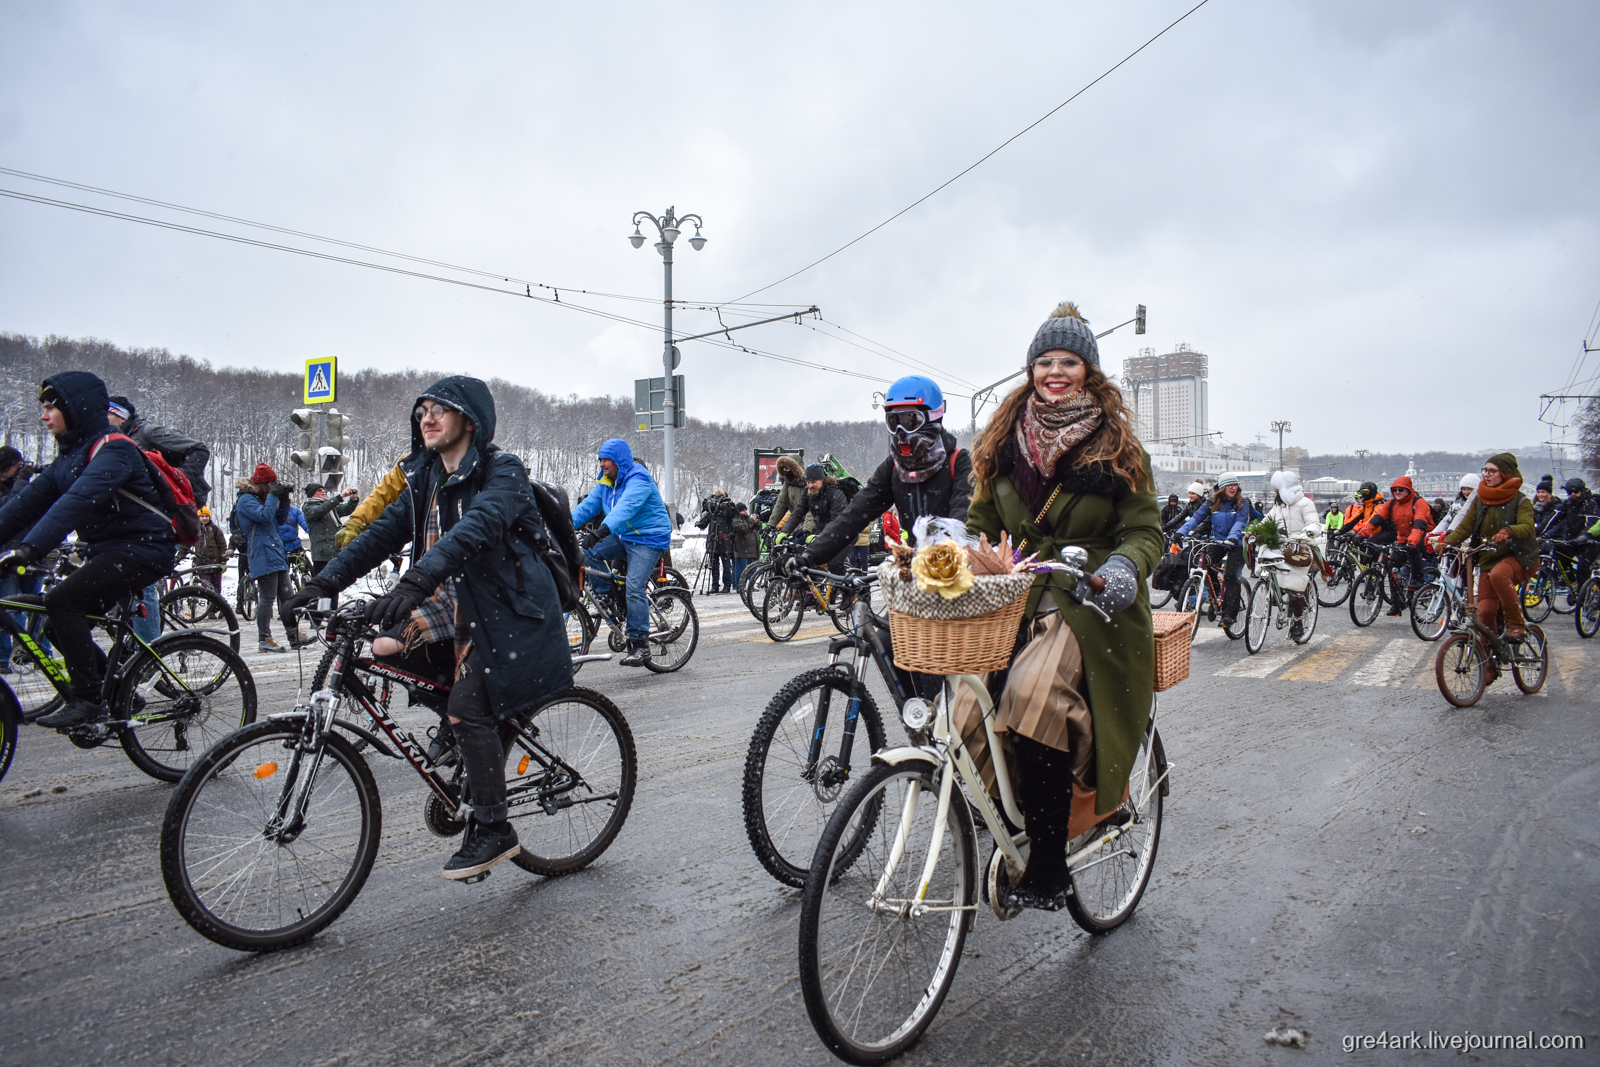
[[[46,378],[45,386],[61,398],[67,432],[56,438],[56,461],[0,509],[0,544],[21,533],[22,542],[43,555],[77,530],[78,545],[90,558],[115,552],[171,569],[178,547],[171,520],[118,493],[126,490],[144,504],[162,507],[139,446],[110,440],[90,462],[94,443],[117,432],[106,419],[106,382],[88,371],[62,371]]]

